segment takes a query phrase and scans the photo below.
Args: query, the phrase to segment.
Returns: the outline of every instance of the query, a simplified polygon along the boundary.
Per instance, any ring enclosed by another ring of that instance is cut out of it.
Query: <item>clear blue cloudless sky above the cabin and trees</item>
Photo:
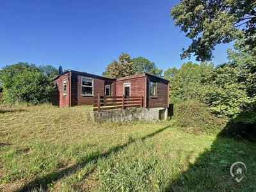
[[[188,61],[180,60],[181,49],[191,40],[168,16],[175,3],[0,0],[0,68],[22,61],[100,75],[121,52],[164,70],[180,67]],[[216,47],[216,65],[227,60],[228,47]]]

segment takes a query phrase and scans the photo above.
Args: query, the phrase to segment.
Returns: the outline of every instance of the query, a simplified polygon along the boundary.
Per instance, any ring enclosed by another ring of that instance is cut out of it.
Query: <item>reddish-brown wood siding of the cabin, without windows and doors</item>
[[[58,99],[60,107],[92,105],[93,96],[81,95],[82,77],[91,77],[93,79],[93,95],[104,95],[105,85],[111,85],[112,96],[122,96],[124,94],[124,83],[131,84],[131,97],[143,96],[143,107],[146,108],[168,108],[169,106],[169,84],[165,79],[151,76],[149,74],[140,74],[134,76],[110,79],[96,76],[84,72],[71,70],[54,81],[58,86]],[[62,95],[62,82],[67,79],[67,95]],[[150,97],[150,81],[156,82],[157,97]],[[70,86],[71,85],[71,86]],[[71,96],[71,97],[70,97]]]

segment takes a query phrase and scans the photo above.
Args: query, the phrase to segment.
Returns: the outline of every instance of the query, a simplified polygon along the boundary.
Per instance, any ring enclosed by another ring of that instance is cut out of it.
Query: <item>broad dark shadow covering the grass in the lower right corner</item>
[[[247,116],[251,116],[250,115]],[[171,180],[164,191],[256,191],[256,124],[243,118],[244,114],[228,122],[218,134],[211,148],[189,164],[188,170],[177,179]],[[241,120],[243,119],[243,120]],[[236,132],[236,134],[234,134]],[[246,164],[242,173],[230,175],[233,163],[242,161]],[[237,182],[237,179],[244,178]]]

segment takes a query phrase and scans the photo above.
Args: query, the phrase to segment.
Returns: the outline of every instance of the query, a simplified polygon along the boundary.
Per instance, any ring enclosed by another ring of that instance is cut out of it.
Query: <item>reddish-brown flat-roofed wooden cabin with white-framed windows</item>
[[[143,108],[169,106],[169,81],[150,74],[137,74],[120,78],[107,78],[68,70],[54,79],[58,87],[61,108],[92,105],[93,96],[143,97]]]

